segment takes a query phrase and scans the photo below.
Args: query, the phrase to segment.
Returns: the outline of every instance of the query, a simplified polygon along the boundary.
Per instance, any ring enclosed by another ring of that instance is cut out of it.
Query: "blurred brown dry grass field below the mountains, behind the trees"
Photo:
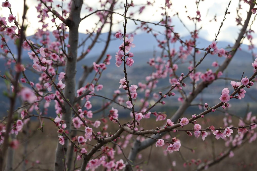
[[[207,118],[207,117],[206,117]],[[209,117],[212,121],[212,124],[215,127],[222,126],[222,116]],[[125,119],[122,119],[125,122]],[[202,125],[202,128],[205,127],[202,121],[205,118],[198,121]],[[123,123],[123,121],[121,121]],[[163,122],[155,122],[154,119],[142,120],[141,125],[144,129],[154,129],[157,125],[162,125]],[[238,122],[237,122],[238,123]],[[234,123],[234,126],[237,125]],[[43,132],[41,130],[36,130],[38,128],[38,122],[31,121],[29,126],[31,131],[27,131],[26,127],[23,128],[23,133],[20,133],[18,139],[21,144],[19,148],[15,151],[15,160],[14,168],[16,170],[52,170],[54,165],[54,154],[55,148],[57,145],[57,128],[51,121],[45,121],[45,126]],[[192,129],[192,125],[187,125],[184,129]],[[206,126],[207,127],[207,126]],[[108,130],[109,132],[114,132],[118,129],[118,124],[109,123]],[[34,130],[35,132],[33,132]],[[82,133],[78,133],[82,134]],[[234,131],[233,136],[237,133]],[[126,136],[125,132],[122,134]],[[205,141],[199,138],[195,138],[194,135],[189,137],[185,132],[170,133],[172,137],[177,137],[181,141],[181,148],[179,152],[173,152],[171,154],[164,155],[163,151],[166,148],[155,147],[155,144],[143,150],[139,157],[140,159],[136,160],[135,165],[139,164],[139,168],[143,170],[195,170],[196,164],[191,163],[191,165],[183,166],[183,163],[190,162],[192,159],[201,160],[201,163],[206,162],[207,160],[213,159],[213,155],[219,156],[223,150],[226,150],[228,147],[224,145],[224,140],[216,140],[214,135],[209,135],[206,137]],[[136,138],[133,136],[130,143],[133,142],[133,139]],[[120,139],[119,141],[122,141]],[[94,140],[90,142],[94,144]],[[110,146],[114,147],[113,144]],[[87,148],[89,148],[88,146]],[[117,148],[114,147],[117,152]],[[192,152],[191,149],[194,149]],[[128,155],[130,146],[123,149],[124,153]],[[245,143],[240,148],[234,151],[234,157],[226,157],[221,162],[213,165],[212,167],[206,168],[206,170],[217,171],[217,170],[257,170],[257,146],[256,141],[251,144]],[[117,159],[125,160],[125,157],[122,154],[116,155]],[[22,162],[24,161],[24,162]],[[176,161],[176,165],[174,165]],[[80,161],[77,161],[77,166],[79,166]],[[173,165],[172,165],[173,164]],[[102,167],[99,167],[97,170],[105,170]],[[136,169],[134,169],[136,170]]]

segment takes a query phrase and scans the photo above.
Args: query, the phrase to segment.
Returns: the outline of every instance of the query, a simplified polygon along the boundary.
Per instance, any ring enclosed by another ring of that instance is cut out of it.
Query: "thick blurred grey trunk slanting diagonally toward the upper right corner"
[[[233,56],[235,55],[236,53],[236,50],[238,49],[238,47],[240,46],[241,44],[241,41],[244,37],[244,34],[246,32],[246,28],[249,24],[249,21],[250,21],[250,18],[251,18],[251,15],[252,15],[252,12],[251,12],[251,9],[254,7],[254,4],[252,3],[250,5],[250,10],[249,12],[247,13],[247,18],[244,22],[244,25],[240,31],[240,33],[238,34],[238,38],[236,39],[236,42],[234,44],[234,46],[232,47],[233,51],[231,52],[231,58],[228,59],[226,58],[225,61],[222,63],[222,65],[217,69],[216,73],[218,71],[224,71],[228,64],[230,63],[230,61],[232,60]],[[212,82],[211,82],[212,83]],[[176,111],[176,113],[170,118],[172,121],[176,121],[178,120],[179,118],[181,118],[181,116],[184,114],[185,110],[190,106],[191,102],[195,99],[195,97],[202,92],[202,90],[204,88],[206,88],[209,84],[211,83],[208,83],[208,82],[201,82],[197,85],[194,93],[190,94],[187,96],[187,98],[185,99],[185,101],[182,103],[182,105],[178,108],[178,110]],[[164,127],[164,126],[163,126]],[[152,138],[155,138],[155,139],[160,139],[164,134],[166,134],[167,132],[164,132],[164,133],[160,133],[160,134],[156,134],[156,135],[152,135],[151,137]],[[128,155],[128,161],[130,161],[130,164],[128,162],[126,162],[126,167],[124,170],[132,170],[131,168],[131,165],[133,165],[133,162],[135,161],[135,158],[136,158],[136,155],[137,153],[139,153],[141,150],[151,146],[152,144],[156,143],[156,140],[155,139],[152,139],[152,138],[148,138],[148,139],[145,139],[144,141],[140,142],[139,140],[135,140],[134,143],[133,143],[133,146],[130,150],[130,153]]]

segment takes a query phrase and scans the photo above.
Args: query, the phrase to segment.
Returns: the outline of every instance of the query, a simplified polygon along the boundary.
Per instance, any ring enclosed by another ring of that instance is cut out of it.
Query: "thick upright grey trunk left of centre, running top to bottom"
[[[67,19],[67,26],[69,27],[69,45],[68,56],[65,67],[65,90],[64,96],[69,100],[70,104],[73,104],[75,97],[75,74],[76,74],[76,62],[77,62],[77,49],[78,49],[78,28],[80,23],[80,11],[82,7],[82,0],[74,0],[71,3],[70,16]],[[71,119],[72,110],[67,102],[64,102],[65,111],[62,111],[62,120],[67,124],[67,130],[71,131]],[[63,171],[65,167],[65,156],[67,154],[68,139],[65,139],[65,144],[57,144],[56,157],[54,170]]]

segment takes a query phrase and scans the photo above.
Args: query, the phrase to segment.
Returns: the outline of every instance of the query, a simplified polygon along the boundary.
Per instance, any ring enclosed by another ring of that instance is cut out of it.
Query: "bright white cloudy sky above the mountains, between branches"
[[[4,0],[2,0],[4,1]],[[153,0],[148,0],[152,2]],[[160,21],[160,14],[163,12],[160,7],[163,6],[164,0],[155,0],[155,5],[151,7],[145,8],[145,10],[140,15],[134,15],[134,18],[141,19],[142,21],[148,21],[148,22],[158,22]],[[22,16],[22,7],[23,7],[23,1],[22,0],[9,0],[9,2],[12,5],[12,12],[13,15],[16,16],[16,18],[21,19]],[[60,0],[54,0],[55,3],[61,2]],[[67,0],[65,2],[68,2]],[[84,4],[87,4],[92,7],[96,7],[98,1],[94,0],[85,0]],[[130,1],[129,1],[130,2]],[[138,11],[140,5],[142,5],[143,2],[146,2],[144,0],[138,0],[134,1],[135,7],[131,9],[132,11]],[[177,1],[177,0],[171,0],[172,3],[171,9],[169,10],[169,14],[173,15],[174,12],[179,13],[179,17],[181,21],[187,26],[187,28],[190,31],[193,31],[195,26],[192,21],[189,21],[187,19],[188,15],[196,16],[197,7],[194,0],[183,0],[183,1]],[[215,34],[218,32],[218,28],[223,20],[225,9],[230,1],[229,0],[216,0],[216,1],[210,1],[205,0],[203,2],[200,2],[199,4],[199,11],[201,13],[201,19],[202,21],[197,24],[197,28],[202,27],[202,30],[199,33],[199,36],[202,38],[205,38],[208,41],[212,41],[215,38]],[[233,43],[234,40],[237,37],[237,33],[240,31],[241,27],[236,26],[235,17],[236,17],[236,8],[238,7],[238,0],[233,0],[231,2],[231,5],[228,8],[228,11],[230,14],[226,16],[226,21],[224,22],[224,25],[221,29],[221,34],[218,36],[219,41],[227,41],[230,43]],[[27,5],[29,6],[28,12],[27,12],[27,24],[29,24],[29,27],[27,28],[27,35],[33,35],[35,33],[35,30],[39,27],[38,18],[37,18],[37,12],[35,6],[37,6],[38,1],[37,0],[27,0]],[[187,13],[185,12],[185,6],[187,6]],[[100,7],[99,7],[100,8]],[[246,10],[249,9],[249,5],[246,5],[242,3],[242,9],[241,13],[242,16],[246,16]],[[124,9],[117,10],[117,12],[123,13]],[[10,11],[8,8],[3,8],[1,6],[0,8],[0,16],[1,17],[8,17],[7,14],[10,14]],[[81,17],[86,15],[85,5],[82,7]],[[217,22],[209,22],[210,19],[214,17],[216,14]],[[121,16],[114,15],[116,21],[122,21]],[[252,17],[253,18],[253,17]],[[80,33],[86,33],[86,29],[91,29],[94,26],[95,21],[97,20],[96,16],[88,17],[88,19],[85,19],[81,24],[79,28]],[[48,21],[49,24],[51,24],[51,21]],[[128,21],[128,30],[127,31],[133,31],[133,29],[136,27],[133,21]],[[187,29],[183,27],[178,17],[172,17],[172,24],[175,25],[174,31],[179,32],[181,36],[189,35],[189,32]],[[253,28],[257,26],[257,23],[253,25]],[[117,24],[114,26],[113,30],[119,30],[122,29],[123,23]],[[154,27],[155,28],[155,27]],[[158,29],[158,28],[157,28]],[[254,30],[254,29],[253,29]],[[107,31],[105,28],[103,29],[103,32]],[[257,36],[254,34],[255,37]],[[253,36],[254,37],[254,36]],[[257,43],[257,40],[253,39],[254,43]],[[244,42],[245,44],[248,44],[247,41]]]

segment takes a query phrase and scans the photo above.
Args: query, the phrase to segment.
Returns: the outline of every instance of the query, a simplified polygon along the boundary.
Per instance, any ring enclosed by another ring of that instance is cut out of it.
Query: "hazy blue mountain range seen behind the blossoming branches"
[[[83,39],[85,39],[86,37],[87,37],[86,34],[80,33],[79,34],[79,42],[82,42]],[[98,57],[98,55],[101,53],[101,50],[105,46],[104,40],[106,39],[106,37],[107,37],[107,34],[104,33],[100,37],[100,39],[102,41],[97,42],[96,45],[90,50],[90,53],[88,54],[88,56],[85,59],[82,59],[81,61],[78,62],[77,74],[76,74],[77,82],[79,80],[79,76],[83,72],[82,66],[83,65],[88,65],[88,66],[92,65],[92,63],[95,61],[95,59]],[[189,37],[184,37],[183,39],[187,39],[187,38],[189,38]],[[30,36],[29,39],[31,39],[34,43],[36,43],[36,40],[33,38],[33,36]],[[53,36],[51,36],[51,39],[54,39]],[[90,43],[90,41],[92,41],[90,38],[88,40],[89,40],[89,42],[87,43],[87,45]],[[118,68],[115,65],[115,55],[116,55],[115,52],[118,51],[118,47],[121,45],[121,43],[122,43],[122,40],[120,40],[120,39],[116,39],[116,38],[112,39],[111,44],[107,50],[107,53],[109,53],[112,56],[111,64],[107,66],[107,69],[103,72],[101,79],[99,80],[99,84],[103,84],[104,89],[102,92],[97,92],[97,93],[107,96],[109,98],[112,98],[112,93],[114,92],[114,90],[118,89],[118,87],[120,85],[119,80],[124,77],[123,69],[121,67]],[[161,52],[160,52],[160,50],[158,50],[159,47],[158,47],[158,43],[156,42],[155,38],[146,33],[135,35],[134,41],[132,43],[134,43],[136,46],[135,48],[131,48],[131,52],[134,53],[133,59],[134,59],[135,63],[132,65],[132,67],[127,67],[127,73],[128,73],[128,79],[131,80],[130,84],[137,84],[139,81],[144,82],[145,77],[148,76],[153,71],[153,68],[149,67],[149,65],[147,64],[147,62],[149,61],[149,58],[152,58],[154,55],[159,56]],[[197,41],[197,47],[199,47],[199,48],[206,47],[209,44],[211,44],[211,42],[208,42],[203,38],[199,38]],[[228,44],[229,44],[228,42],[218,42],[217,46],[219,48],[221,48],[221,47],[225,48]],[[9,47],[11,47],[11,49],[15,49],[14,44],[10,44]],[[178,48],[179,44],[176,43],[174,47]],[[231,64],[226,69],[226,71],[224,72],[222,77],[228,77],[228,78],[240,80],[243,72],[244,72],[243,76],[245,76],[245,75],[250,76],[252,74],[253,68],[252,68],[251,63],[253,62],[253,58],[249,52],[244,50],[245,48],[247,48],[247,45],[243,45],[243,47],[242,47],[243,50],[241,50],[241,51],[238,50],[236,52],[234,59],[231,61]],[[84,47],[84,49],[87,49],[87,47]],[[80,47],[78,50],[78,54],[80,54],[82,52],[82,50],[83,50],[83,47]],[[14,53],[16,53],[15,50],[14,50]],[[203,57],[203,55],[204,55],[204,52],[201,52],[201,54],[198,54],[196,56],[196,61],[198,62],[200,60],[200,58]],[[191,59],[190,56],[189,56],[189,59]],[[224,57],[218,57],[217,55],[208,54],[206,56],[203,64],[199,65],[199,67],[197,68],[197,71],[205,72],[207,69],[212,69],[213,71],[215,71],[216,68],[211,67],[212,62],[217,61],[219,64],[221,64],[224,61],[224,59],[225,59]],[[32,62],[31,59],[29,59],[27,56],[27,51],[24,51],[22,63],[29,64],[31,62]],[[5,63],[5,60],[0,58],[1,75],[4,74],[5,69],[6,69],[6,66],[4,63]],[[179,65],[177,74],[187,71],[187,67],[188,67],[188,63],[181,63]],[[64,71],[64,68],[60,67],[59,71]],[[26,70],[25,74],[27,75],[27,77],[30,78],[31,81],[36,82],[36,80],[38,79],[37,74],[33,73],[29,70]],[[94,74],[95,74],[95,72],[93,71],[93,73],[91,73],[89,75],[89,77],[85,83],[91,82],[91,80],[94,78]],[[133,77],[133,81],[132,81],[132,77]],[[189,78],[187,78],[185,80],[185,83],[187,85],[190,84]],[[167,79],[166,80],[161,79],[158,83],[158,86],[160,86],[160,87],[165,87],[168,85],[169,85],[169,83],[168,83]],[[219,101],[218,98],[220,96],[222,87],[224,88],[225,86],[229,87],[230,81],[219,80],[219,81],[217,81],[216,84],[210,85],[210,87],[208,87],[208,89],[204,90],[203,93],[200,95],[200,97],[197,98],[197,100],[202,98],[202,99],[206,100],[206,102],[209,101],[211,103],[218,103],[218,101]],[[1,79],[1,81],[0,81],[0,89],[2,91],[6,89],[6,85],[3,81],[3,79]],[[185,91],[186,91],[186,93],[189,93],[189,89],[185,89]],[[255,91],[254,88],[250,88],[249,90],[247,90],[246,94],[248,94],[248,96],[246,95],[245,98],[243,99],[244,103],[245,102],[252,103],[252,99],[250,96],[255,93],[254,91]],[[219,92],[219,93],[217,93],[217,92]],[[139,93],[139,97],[141,97],[141,96],[142,95]],[[177,97],[175,98],[175,101],[172,100],[172,102],[167,102],[167,104],[172,103],[172,106],[174,108],[176,108],[180,104],[180,102],[177,102],[177,100],[176,100]],[[98,108],[100,105],[102,105],[102,102],[99,103],[99,100],[101,102],[103,99],[95,98],[94,100],[92,100],[92,103],[98,104],[96,106],[96,108]],[[1,101],[0,102],[0,116],[1,116],[1,115],[6,114],[5,111],[8,109],[9,102],[8,102],[8,98],[2,96],[2,94],[0,94],[0,101]],[[209,103],[209,102],[207,102],[207,103]],[[239,102],[239,100],[236,101],[236,103],[240,103],[240,102]],[[210,105],[213,105],[213,104],[210,104]],[[94,108],[94,109],[96,109],[96,108]],[[52,113],[54,114],[53,108],[49,109],[49,112],[50,111],[52,111]],[[119,112],[120,112],[120,110],[119,110]]]

